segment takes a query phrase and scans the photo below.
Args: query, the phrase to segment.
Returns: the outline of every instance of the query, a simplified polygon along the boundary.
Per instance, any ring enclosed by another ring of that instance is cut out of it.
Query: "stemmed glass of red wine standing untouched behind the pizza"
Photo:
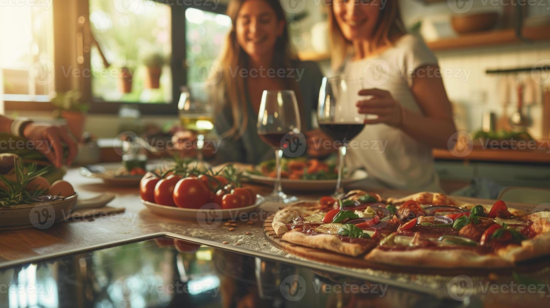
[[[294,91],[265,90],[258,113],[257,131],[260,138],[275,151],[277,179],[273,193],[266,201],[288,203],[296,200],[283,193],[281,188],[281,149],[284,139],[300,133],[300,113]]]

